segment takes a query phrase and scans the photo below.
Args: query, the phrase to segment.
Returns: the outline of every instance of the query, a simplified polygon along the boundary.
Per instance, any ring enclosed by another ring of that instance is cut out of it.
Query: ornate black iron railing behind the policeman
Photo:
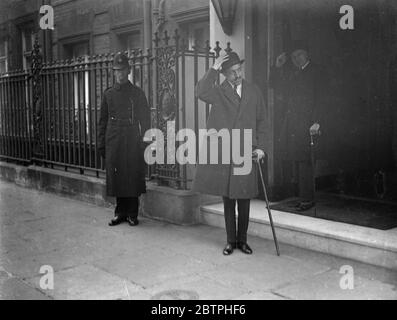
[[[130,80],[145,91],[151,106],[152,127],[165,137],[170,124],[176,132],[197,133],[205,128],[210,106],[195,96],[195,85],[222,49],[217,42],[211,50],[208,41],[205,48],[189,49],[177,31],[173,37],[156,33],[154,44],[152,52],[126,52]],[[228,44],[225,51],[231,50]],[[0,75],[0,159],[103,177],[97,123],[102,94],[114,81],[113,56],[41,63],[36,41],[32,69]],[[188,189],[194,170],[194,164],[155,164],[147,177]]]

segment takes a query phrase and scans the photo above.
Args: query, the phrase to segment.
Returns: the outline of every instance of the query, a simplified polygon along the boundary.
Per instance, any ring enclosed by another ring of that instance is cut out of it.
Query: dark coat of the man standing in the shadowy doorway
[[[326,83],[324,70],[312,62],[303,70],[272,70],[270,86],[280,89],[284,96],[280,135],[276,137],[282,160],[310,161],[309,128],[315,122],[320,124],[321,146],[328,144]],[[318,151],[324,156],[324,150]]]

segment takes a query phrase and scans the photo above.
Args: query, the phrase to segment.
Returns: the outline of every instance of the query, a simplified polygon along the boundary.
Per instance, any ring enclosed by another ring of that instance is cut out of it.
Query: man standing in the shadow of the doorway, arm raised
[[[325,73],[310,61],[301,41],[296,41],[290,57],[292,64],[286,63],[286,53],[277,57],[269,84],[283,91],[285,103],[278,138],[283,176],[287,185],[297,186],[301,200],[297,209],[303,211],[314,206],[311,139],[319,135],[320,123],[324,128]]]

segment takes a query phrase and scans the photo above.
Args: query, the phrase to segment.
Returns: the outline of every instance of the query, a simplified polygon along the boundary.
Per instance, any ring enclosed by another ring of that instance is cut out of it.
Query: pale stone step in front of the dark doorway
[[[277,210],[271,212],[279,243],[397,269],[397,228],[378,230]],[[201,206],[200,221],[224,228],[223,204]],[[248,234],[273,239],[264,201],[251,201]]]

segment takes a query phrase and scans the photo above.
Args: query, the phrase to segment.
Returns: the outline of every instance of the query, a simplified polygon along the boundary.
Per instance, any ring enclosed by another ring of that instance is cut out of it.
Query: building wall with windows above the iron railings
[[[54,9],[54,30],[39,31],[40,7]],[[209,2],[184,0],[5,1],[1,4],[2,71],[29,67],[36,34],[45,60],[150,49],[153,33],[180,30],[193,46],[209,39]]]

